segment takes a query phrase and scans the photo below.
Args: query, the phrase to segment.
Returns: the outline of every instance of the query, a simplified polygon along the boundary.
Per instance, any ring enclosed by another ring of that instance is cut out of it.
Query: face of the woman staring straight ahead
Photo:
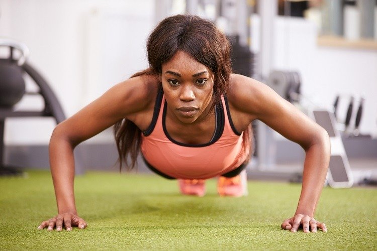
[[[160,80],[170,114],[183,123],[205,118],[211,107],[214,83],[207,66],[177,51],[162,64]]]

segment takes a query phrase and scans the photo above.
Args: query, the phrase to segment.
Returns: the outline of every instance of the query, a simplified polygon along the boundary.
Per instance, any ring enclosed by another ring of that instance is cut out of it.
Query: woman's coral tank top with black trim
[[[142,132],[141,153],[148,165],[178,179],[208,179],[228,173],[245,162],[243,133],[239,134],[233,126],[226,97],[215,106],[215,134],[206,144],[183,144],[172,139],[165,128],[166,107],[160,90],[152,122]]]

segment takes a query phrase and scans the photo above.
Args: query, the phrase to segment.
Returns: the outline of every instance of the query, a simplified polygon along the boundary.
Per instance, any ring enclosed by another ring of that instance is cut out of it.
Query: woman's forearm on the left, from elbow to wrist
[[[62,135],[54,131],[49,144],[49,155],[58,213],[77,214],[73,192],[73,148]]]

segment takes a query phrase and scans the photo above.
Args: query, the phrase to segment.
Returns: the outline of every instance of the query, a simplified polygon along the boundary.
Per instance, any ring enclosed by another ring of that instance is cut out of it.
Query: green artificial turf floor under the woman
[[[316,219],[328,232],[291,233],[300,184],[249,181],[249,196],[223,198],[216,180],[203,198],[155,175],[88,172],[76,177],[86,229],[38,230],[56,214],[50,173],[0,178],[0,249],[375,249],[377,190],[324,188]]]

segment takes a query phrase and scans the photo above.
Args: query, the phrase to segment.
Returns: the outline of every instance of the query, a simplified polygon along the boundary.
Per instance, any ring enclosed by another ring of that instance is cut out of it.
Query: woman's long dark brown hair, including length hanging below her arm
[[[147,41],[149,68],[134,74],[131,78],[141,75],[158,76],[161,74],[162,64],[169,61],[177,51],[191,55],[213,72],[213,108],[228,89],[232,73],[230,44],[214,24],[198,16],[176,15],[162,20]],[[114,137],[120,168],[123,161],[128,169],[134,168],[140,152],[140,129],[132,121],[123,119],[115,124]],[[128,155],[131,157],[131,165],[128,164]]]

